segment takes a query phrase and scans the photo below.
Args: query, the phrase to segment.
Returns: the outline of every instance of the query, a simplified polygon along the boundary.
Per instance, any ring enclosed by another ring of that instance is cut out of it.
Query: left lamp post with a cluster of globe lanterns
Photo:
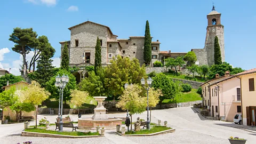
[[[63,110],[63,90],[65,88],[65,86],[67,85],[68,81],[69,81],[69,77],[62,75],[62,77],[60,77],[59,75],[57,77],[55,77],[55,86],[59,87],[60,92],[61,92],[61,97],[59,100],[59,113],[60,113],[60,125],[59,125],[59,132],[63,131],[63,122],[62,122],[62,110]],[[60,105],[61,102],[61,105]],[[61,107],[60,107],[61,106]]]

